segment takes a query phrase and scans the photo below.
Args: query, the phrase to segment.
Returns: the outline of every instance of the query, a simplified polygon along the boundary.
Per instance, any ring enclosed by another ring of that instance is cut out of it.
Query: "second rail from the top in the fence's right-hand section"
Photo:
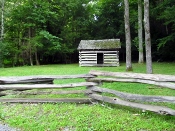
[[[157,82],[152,80],[141,80],[141,79],[121,79],[121,78],[89,78],[89,82],[130,82],[130,83],[144,83],[150,85],[156,85],[163,88],[169,88],[175,90],[175,83],[172,82]]]

